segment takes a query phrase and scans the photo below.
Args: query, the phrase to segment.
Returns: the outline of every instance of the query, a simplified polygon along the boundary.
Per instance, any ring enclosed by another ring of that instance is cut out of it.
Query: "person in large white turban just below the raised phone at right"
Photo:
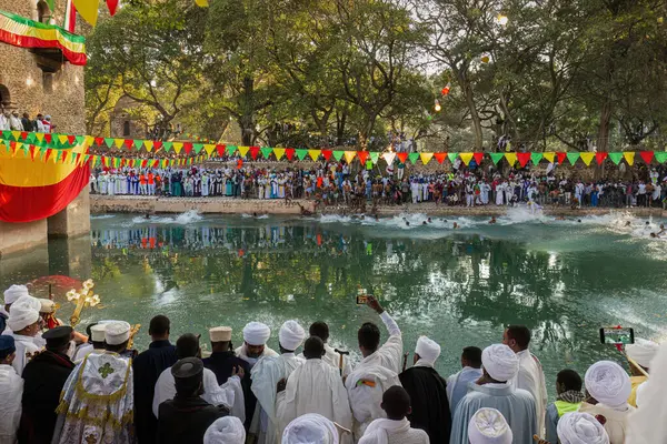
[[[584,402],[579,412],[589,413],[596,417],[604,416],[609,442],[624,444],[628,417],[636,410],[628,404],[628,397],[633,391],[630,376],[617,363],[599,361],[588,367],[586,376],[584,376],[584,384],[597,404]]]

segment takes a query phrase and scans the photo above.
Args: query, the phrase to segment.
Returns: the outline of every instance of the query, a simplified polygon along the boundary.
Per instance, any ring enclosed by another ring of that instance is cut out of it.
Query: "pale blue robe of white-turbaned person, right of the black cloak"
[[[451,422],[450,444],[468,444],[468,423],[481,407],[497,408],[502,413],[514,434],[512,444],[534,444],[537,434],[537,415],[532,395],[508,384],[468,385],[468,394],[456,407]]]

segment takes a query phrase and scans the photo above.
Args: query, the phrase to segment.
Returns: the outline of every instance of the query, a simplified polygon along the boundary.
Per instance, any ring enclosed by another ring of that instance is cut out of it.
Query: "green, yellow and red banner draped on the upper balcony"
[[[86,38],[54,24],[0,10],[0,41],[21,48],[57,48],[72,64],[86,64]]]

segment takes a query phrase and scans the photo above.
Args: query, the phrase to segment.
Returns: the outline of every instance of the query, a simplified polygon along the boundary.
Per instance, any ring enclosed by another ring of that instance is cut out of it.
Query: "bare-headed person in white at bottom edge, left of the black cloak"
[[[386,417],[377,418],[366,428],[359,444],[429,444],[428,434],[410,427],[410,395],[404,387],[389,387],[382,395]]]

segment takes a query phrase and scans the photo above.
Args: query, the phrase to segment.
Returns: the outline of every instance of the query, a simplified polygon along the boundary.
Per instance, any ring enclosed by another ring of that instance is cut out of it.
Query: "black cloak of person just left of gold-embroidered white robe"
[[[18,433],[20,444],[51,442],[58,418],[56,408],[60,404],[60,392],[73,369],[74,363],[67,355],[48,350],[26,365]]]

